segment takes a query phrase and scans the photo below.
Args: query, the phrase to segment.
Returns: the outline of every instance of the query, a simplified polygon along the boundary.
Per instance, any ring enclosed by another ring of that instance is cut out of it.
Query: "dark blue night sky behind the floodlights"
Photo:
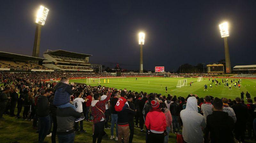
[[[90,63],[139,69],[138,33],[145,32],[144,69],[225,59],[219,24],[229,23],[231,66],[256,64],[256,0],[1,0],[0,51],[32,55],[35,16],[50,9],[42,27],[47,49],[92,54]]]

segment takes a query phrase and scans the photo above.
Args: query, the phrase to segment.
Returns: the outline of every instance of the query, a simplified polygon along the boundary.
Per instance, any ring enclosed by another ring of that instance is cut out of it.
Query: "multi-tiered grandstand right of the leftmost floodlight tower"
[[[93,71],[89,63],[90,54],[81,54],[65,50],[47,50],[43,54],[47,60],[43,66],[64,71]]]

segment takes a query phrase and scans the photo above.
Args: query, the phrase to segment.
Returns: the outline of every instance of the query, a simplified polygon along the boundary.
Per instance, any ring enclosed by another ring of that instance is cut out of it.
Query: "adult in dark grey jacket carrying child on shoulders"
[[[59,143],[74,143],[75,122],[78,122],[84,119],[84,117],[83,118],[79,118],[79,117],[81,117],[81,113],[77,112],[72,106],[68,106],[65,108],[57,108],[56,119],[58,124],[57,135],[58,135]]]

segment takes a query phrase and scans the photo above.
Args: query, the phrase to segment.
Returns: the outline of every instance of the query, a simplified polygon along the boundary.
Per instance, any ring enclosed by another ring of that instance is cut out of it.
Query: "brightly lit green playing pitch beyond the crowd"
[[[181,88],[176,88],[176,85],[179,80],[187,79],[188,86],[184,86]],[[229,78],[228,83],[230,83],[231,79]],[[217,79],[222,84],[222,78]],[[238,79],[235,79],[235,82]],[[106,79],[106,82],[108,79]],[[70,82],[78,82],[78,83],[86,83],[86,79],[78,79],[78,80],[70,80]],[[189,82],[192,83],[192,87],[189,86]],[[92,83],[92,82],[91,82]],[[235,99],[236,97],[240,97],[240,93],[244,91],[248,91],[251,94],[251,97],[255,97],[256,95],[256,80],[254,79],[242,79],[241,88],[238,89],[232,86],[232,90],[228,90],[227,87],[222,84],[221,86],[215,86],[215,82],[212,85],[212,89],[209,88],[210,83],[212,81],[208,78],[203,78],[203,81],[197,82],[197,78],[164,78],[164,77],[138,77],[137,81],[135,77],[127,77],[127,78],[109,78],[109,83],[104,83],[104,79],[100,79],[100,85],[105,85],[107,87],[115,87],[117,89],[134,90],[137,92],[144,91],[147,93],[161,93],[162,95],[167,96],[167,94],[187,97],[188,94],[197,94],[199,97],[204,97],[206,95],[211,95],[213,97],[226,97],[230,99]],[[234,83],[234,82],[233,82]],[[204,91],[204,85],[208,86],[208,91]],[[90,84],[92,86],[96,86],[98,84]],[[161,89],[162,85],[162,89]],[[167,86],[168,91],[165,93],[165,86]],[[245,95],[244,95],[245,97]],[[245,98],[244,98],[245,99]],[[246,101],[245,101],[246,102]]]

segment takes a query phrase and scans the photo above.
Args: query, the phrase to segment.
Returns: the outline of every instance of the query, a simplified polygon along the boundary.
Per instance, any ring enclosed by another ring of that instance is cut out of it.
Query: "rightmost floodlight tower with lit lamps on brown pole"
[[[221,38],[224,38],[224,47],[225,47],[225,62],[226,62],[226,73],[231,73],[231,65],[229,58],[229,49],[228,49],[228,22],[224,22],[220,26],[220,35]]]

